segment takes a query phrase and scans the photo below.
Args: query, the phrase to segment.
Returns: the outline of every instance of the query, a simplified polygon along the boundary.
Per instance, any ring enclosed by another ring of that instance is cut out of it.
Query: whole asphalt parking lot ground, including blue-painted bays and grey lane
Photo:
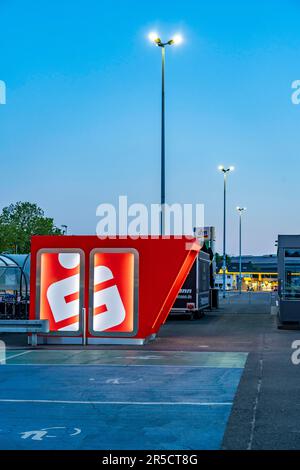
[[[300,366],[271,294],[168,321],[144,347],[31,351],[4,336],[0,448],[299,449]]]

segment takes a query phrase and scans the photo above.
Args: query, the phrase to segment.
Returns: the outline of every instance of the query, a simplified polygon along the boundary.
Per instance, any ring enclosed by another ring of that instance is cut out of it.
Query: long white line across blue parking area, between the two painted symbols
[[[1,398],[0,403],[54,403],[62,405],[150,405],[150,406],[232,406],[232,402],[168,402],[168,401],[87,401],[87,400],[21,400],[13,398]]]

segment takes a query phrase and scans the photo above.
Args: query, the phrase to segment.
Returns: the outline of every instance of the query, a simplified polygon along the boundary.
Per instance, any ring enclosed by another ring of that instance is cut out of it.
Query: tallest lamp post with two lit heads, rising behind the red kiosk
[[[161,192],[160,192],[160,233],[165,233],[165,203],[166,203],[166,165],[165,165],[165,50],[166,46],[182,43],[182,36],[176,34],[167,42],[162,42],[157,33],[150,33],[149,39],[161,48],[162,74],[161,74]]]

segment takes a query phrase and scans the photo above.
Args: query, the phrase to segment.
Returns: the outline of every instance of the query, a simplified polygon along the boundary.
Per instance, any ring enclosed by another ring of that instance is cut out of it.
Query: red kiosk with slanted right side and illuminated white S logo
[[[145,339],[165,322],[199,250],[185,237],[33,236],[30,318],[50,319],[55,335],[80,337],[85,308],[88,338]]]

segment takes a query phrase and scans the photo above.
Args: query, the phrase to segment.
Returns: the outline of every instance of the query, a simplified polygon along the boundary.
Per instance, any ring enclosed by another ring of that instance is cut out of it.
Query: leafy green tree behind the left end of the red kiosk
[[[32,235],[60,235],[53,219],[31,202],[4,207],[0,214],[0,252],[29,253]]]

